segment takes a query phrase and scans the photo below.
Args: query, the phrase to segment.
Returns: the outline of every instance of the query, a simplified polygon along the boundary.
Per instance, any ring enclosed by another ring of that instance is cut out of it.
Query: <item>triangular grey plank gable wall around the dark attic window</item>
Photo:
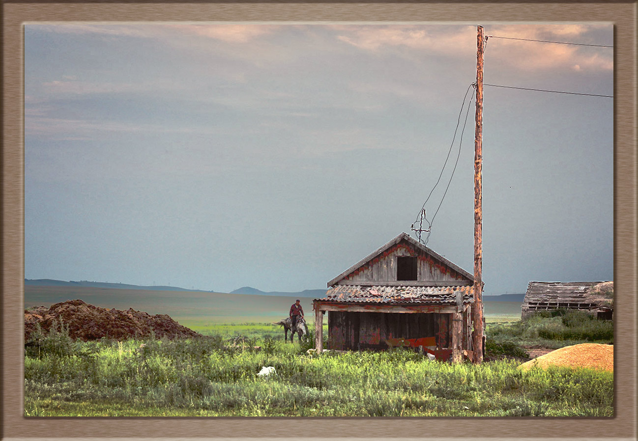
[[[417,257],[417,280],[454,281],[465,280],[463,276],[431,256],[415,250],[408,243],[400,242],[391,249],[361,266],[344,280],[378,280],[380,282],[397,280],[397,257]]]

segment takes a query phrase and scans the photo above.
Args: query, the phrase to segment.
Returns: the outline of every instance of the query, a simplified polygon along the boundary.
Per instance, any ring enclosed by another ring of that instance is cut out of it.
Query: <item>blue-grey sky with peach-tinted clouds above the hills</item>
[[[433,187],[473,273],[476,25],[26,24],[25,277],[323,288]],[[613,95],[612,24],[484,26],[486,84]],[[613,99],[483,104],[485,294],[612,280]]]

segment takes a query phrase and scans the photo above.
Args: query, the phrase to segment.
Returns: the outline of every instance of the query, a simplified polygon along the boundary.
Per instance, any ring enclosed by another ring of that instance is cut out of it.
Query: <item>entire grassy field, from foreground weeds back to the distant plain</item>
[[[286,316],[290,297],[31,286],[25,307],[75,298],[168,314],[205,337],[76,342],[64,332],[40,335],[26,347],[25,416],[613,415],[611,372],[517,368],[522,345],[612,341],[611,324],[587,317],[523,323],[518,303],[486,302],[492,361],[475,366],[404,349],[307,354],[312,332],[306,342],[284,343],[272,324]],[[309,315],[310,300],[302,301]],[[262,366],[276,374],[259,377]]]

